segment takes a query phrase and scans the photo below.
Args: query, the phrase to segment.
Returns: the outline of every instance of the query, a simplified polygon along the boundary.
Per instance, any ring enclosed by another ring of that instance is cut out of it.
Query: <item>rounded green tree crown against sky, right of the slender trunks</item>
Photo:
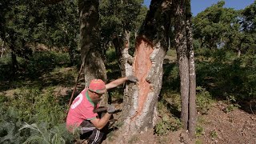
[[[220,48],[226,43],[225,38],[233,33],[231,28],[238,15],[233,8],[223,8],[224,5],[224,1],[219,1],[193,19],[194,38],[199,39],[201,47]]]

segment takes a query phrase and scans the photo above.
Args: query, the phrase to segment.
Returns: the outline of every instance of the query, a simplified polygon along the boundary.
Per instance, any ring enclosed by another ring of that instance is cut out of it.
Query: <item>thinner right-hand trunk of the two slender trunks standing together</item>
[[[189,50],[189,65],[190,65],[190,102],[189,102],[189,126],[190,138],[194,138],[197,110],[196,110],[196,74],[194,66],[194,47],[192,37],[192,22],[191,22],[191,9],[190,0],[186,0],[186,41]]]

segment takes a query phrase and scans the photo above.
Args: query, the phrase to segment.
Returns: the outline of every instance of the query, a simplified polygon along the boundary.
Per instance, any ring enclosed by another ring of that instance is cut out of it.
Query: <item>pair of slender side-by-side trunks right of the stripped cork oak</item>
[[[194,66],[194,48],[191,30],[190,0],[174,3],[174,34],[180,75],[180,93],[182,100],[181,119],[183,128],[189,130],[193,138],[196,128],[196,79]]]

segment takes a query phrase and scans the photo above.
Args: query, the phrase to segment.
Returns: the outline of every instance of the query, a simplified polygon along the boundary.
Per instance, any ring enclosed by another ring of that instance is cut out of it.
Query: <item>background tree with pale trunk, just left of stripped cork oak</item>
[[[102,49],[114,45],[122,77],[132,74],[133,57],[129,49],[146,15],[142,2],[105,0],[100,3]]]

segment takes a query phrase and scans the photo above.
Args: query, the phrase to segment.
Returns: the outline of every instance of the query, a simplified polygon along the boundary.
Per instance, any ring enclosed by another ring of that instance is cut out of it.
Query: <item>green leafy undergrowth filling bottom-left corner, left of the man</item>
[[[22,87],[13,98],[1,98],[5,105],[1,108],[0,143],[72,143],[74,136],[64,123],[66,106],[58,105],[53,91],[52,87]],[[24,122],[34,124],[22,126]]]

